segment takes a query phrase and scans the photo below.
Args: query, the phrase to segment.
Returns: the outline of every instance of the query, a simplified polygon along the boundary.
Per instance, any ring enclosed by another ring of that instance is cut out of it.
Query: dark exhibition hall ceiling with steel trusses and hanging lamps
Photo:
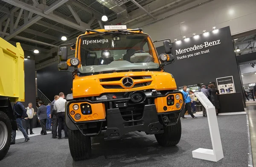
[[[86,29],[103,28],[112,20],[124,23],[131,12],[154,20],[149,3],[155,0],[0,0],[0,35],[13,45],[20,42],[26,55],[49,54],[50,49],[76,38]],[[189,3],[195,0],[182,0]],[[158,0],[160,6],[176,2]],[[166,7],[168,9],[168,7]],[[108,17],[103,21],[102,16]],[[139,21],[139,20],[137,20]],[[34,53],[33,53],[34,52]]]

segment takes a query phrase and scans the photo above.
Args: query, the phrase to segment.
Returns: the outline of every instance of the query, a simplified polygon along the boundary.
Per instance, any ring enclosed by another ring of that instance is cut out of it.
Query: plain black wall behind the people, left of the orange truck
[[[51,101],[59,92],[64,92],[65,95],[72,93],[72,72],[60,72],[57,66],[58,64],[52,64],[37,71],[38,89]]]

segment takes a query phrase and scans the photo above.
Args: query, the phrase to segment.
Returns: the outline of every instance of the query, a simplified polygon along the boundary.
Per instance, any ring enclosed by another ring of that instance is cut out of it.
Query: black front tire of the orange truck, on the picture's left
[[[74,161],[80,161],[91,157],[90,136],[84,136],[79,130],[68,130],[68,142],[70,153]]]

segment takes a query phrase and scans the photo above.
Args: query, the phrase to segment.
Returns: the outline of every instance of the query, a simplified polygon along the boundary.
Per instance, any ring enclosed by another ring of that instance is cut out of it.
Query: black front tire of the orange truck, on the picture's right
[[[172,122],[175,122],[175,119],[172,119]],[[180,142],[181,137],[181,123],[180,120],[176,125],[164,126],[164,132],[160,134],[155,134],[158,144],[163,147],[175,146]]]

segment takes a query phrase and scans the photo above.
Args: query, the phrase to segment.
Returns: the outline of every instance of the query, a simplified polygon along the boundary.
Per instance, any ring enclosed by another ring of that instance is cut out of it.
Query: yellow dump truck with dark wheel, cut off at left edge
[[[0,160],[9,150],[12,130],[17,123],[12,101],[25,101],[24,52],[20,43],[16,47],[0,37]]]

